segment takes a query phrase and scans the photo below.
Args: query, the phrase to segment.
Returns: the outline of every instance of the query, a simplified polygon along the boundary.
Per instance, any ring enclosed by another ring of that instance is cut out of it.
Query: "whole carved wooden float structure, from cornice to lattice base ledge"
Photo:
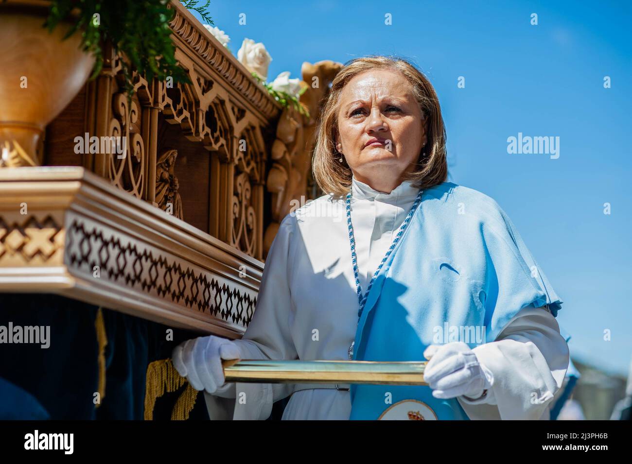
[[[301,116],[180,2],[171,7],[191,84],[134,73],[128,102],[123,57],[106,50],[99,77],[47,126],[43,166],[14,168],[20,158],[11,157],[0,169],[0,291],[56,292],[240,336],[291,200],[320,194],[310,181],[313,133],[341,65],[303,64],[310,118]],[[76,153],[86,135],[125,136],[126,157]]]

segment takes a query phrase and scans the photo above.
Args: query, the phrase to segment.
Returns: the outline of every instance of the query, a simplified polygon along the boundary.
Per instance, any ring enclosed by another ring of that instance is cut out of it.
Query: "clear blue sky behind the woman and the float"
[[[626,1],[214,1],[236,55],[247,37],[269,80],[303,61],[413,61],[435,86],[450,181],[494,198],[557,294],[571,354],[626,374],[632,357],[632,3]],[[240,13],[246,25],[239,24]],[[392,25],[385,25],[386,13]],[[538,25],[530,24],[532,13]],[[459,76],[465,88],[458,88]],[[610,76],[611,88],[604,88]],[[559,137],[559,158],[507,138]],[[610,203],[611,214],[604,214]],[[604,340],[604,330],[611,340]]]

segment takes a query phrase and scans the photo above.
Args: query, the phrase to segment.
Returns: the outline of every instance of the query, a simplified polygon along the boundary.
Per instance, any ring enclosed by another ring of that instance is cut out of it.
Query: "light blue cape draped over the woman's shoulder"
[[[428,345],[470,348],[494,342],[523,307],[562,300],[501,207],[452,182],[425,189],[422,201],[369,292],[353,359],[422,361]],[[437,419],[468,419],[456,398],[439,400],[428,386],[351,385],[351,420],[378,419],[415,399]]]

